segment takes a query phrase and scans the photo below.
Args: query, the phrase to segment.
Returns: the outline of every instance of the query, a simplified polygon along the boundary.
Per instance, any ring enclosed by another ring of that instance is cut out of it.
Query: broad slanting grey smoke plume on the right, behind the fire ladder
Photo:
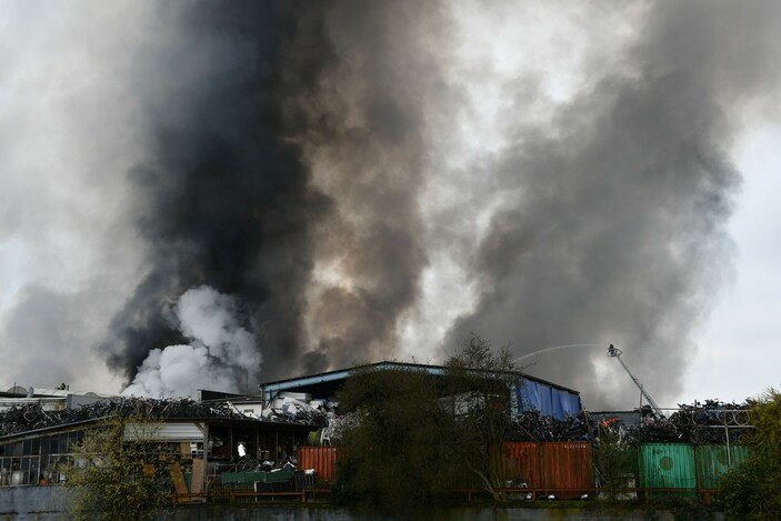
[[[779,14],[773,2],[652,3],[632,70],[608,74],[550,124],[514,123],[493,168],[518,196],[492,219],[473,267],[479,302],[448,343],[474,331],[520,355],[613,342],[652,393],[674,395],[691,333],[729,272],[724,224],[740,177],[728,153],[740,110],[775,80],[765,66],[778,58]],[[598,358],[603,349],[582,348],[527,361],[593,408],[631,387],[623,373],[598,381]]]

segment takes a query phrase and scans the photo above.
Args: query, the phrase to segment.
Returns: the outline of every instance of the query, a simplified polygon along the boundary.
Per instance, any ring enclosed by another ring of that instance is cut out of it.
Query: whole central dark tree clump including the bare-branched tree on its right
[[[441,378],[413,368],[357,369],[337,397],[358,418],[338,441],[338,498],[390,510],[471,488],[501,499],[514,369],[507,349],[494,353],[478,337],[447,361]]]

